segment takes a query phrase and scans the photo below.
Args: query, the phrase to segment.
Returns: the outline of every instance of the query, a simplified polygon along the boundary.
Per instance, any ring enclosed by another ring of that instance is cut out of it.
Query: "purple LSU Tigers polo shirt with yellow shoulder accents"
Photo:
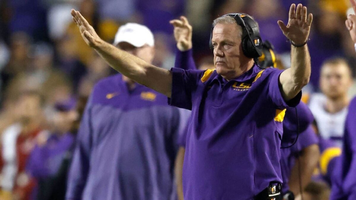
[[[216,71],[172,68],[169,104],[192,110],[183,165],[187,199],[251,199],[271,181],[282,182],[279,165],[284,109],[282,70],[253,66],[227,81]]]

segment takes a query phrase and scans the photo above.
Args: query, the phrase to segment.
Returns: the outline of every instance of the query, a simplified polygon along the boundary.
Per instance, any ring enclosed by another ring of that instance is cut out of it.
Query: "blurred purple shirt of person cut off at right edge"
[[[342,153],[332,177],[330,199],[356,199],[356,97],[346,116]]]

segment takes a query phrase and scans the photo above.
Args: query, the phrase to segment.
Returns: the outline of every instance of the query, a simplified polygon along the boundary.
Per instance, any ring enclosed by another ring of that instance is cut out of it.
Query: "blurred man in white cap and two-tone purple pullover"
[[[136,23],[121,26],[114,45],[148,63],[154,57],[151,31]],[[66,199],[176,199],[174,159],[188,117],[121,74],[99,81],[79,128]]]

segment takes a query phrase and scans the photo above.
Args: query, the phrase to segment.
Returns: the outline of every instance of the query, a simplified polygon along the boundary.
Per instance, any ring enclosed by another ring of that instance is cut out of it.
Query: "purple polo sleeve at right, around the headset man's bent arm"
[[[295,107],[299,104],[300,99],[302,98],[302,91],[300,91],[293,99],[289,101],[285,101],[283,99],[281,90],[280,83],[279,83],[279,76],[283,70],[273,70],[271,74],[269,75],[269,88],[268,88],[268,94],[269,97],[271,98],[273,104],[278,108],[278,109],[285,109],[288,107]]]

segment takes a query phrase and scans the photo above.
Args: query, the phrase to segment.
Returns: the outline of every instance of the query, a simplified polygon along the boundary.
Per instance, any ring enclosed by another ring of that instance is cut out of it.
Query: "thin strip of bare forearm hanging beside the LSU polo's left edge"
[[[176,182],[177,182],[178,200],[184,199],[183,198],[183,180],[182,180],[184,153],[185,153],[185,148],[180,146],[178,149],[176,163],[174,166],[174,175],[176,176]]]

